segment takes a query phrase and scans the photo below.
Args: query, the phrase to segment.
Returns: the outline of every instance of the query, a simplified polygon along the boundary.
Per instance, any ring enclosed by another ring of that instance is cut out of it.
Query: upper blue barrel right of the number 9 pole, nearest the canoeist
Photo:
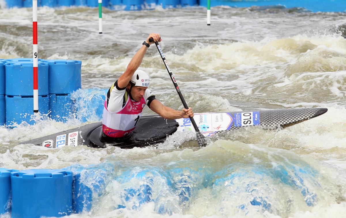
[[[42,62],[49,66],[49,94],[69,94],[82,87],[81,61],[45,60]]]

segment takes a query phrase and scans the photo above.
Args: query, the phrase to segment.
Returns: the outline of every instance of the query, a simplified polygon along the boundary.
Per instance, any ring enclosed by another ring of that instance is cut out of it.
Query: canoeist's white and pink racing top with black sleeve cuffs
[[[109,88],[107,98],[104,101],[102,116],[102,131],[109,137],[124,137],[136,127],[142,110],[145,105],[150,107],[150,103],[155,96],[149,89],[146,89],[140,101],[130,98],[125,88],[118,87],[118,80]]]

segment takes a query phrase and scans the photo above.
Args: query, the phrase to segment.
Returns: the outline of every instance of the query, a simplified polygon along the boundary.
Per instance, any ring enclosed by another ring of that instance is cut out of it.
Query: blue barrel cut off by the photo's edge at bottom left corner
[[[0,215],[11,212],[11,172],[13,169],[0,168]]]

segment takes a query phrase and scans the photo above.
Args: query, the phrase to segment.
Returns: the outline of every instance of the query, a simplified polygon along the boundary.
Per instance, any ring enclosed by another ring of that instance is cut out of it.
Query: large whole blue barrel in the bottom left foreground
[[[11,172],[11,186],[12,218],[71,214],[71,171],[33,169]]]

